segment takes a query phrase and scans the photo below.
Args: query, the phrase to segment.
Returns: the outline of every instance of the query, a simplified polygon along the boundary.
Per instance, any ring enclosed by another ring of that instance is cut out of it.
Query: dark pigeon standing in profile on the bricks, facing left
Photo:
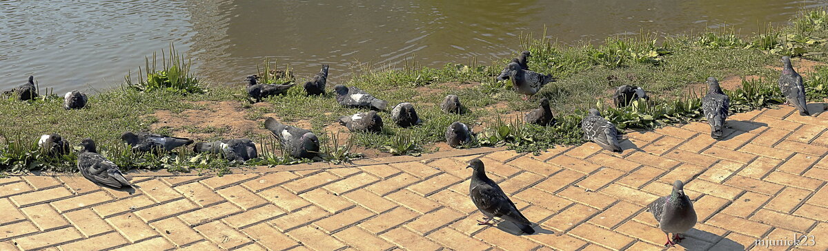
[[[474,202],[474,206],[477,206],[477,209],[485,215],[483,218],[485,221],[478,220],[478,225],[492,225],[489,221],[494,217],[499,217],[517,225],[523,233],[535,233],[532,221],[527,220],[526,216],[517,211],[515,203],[506,197],[506,193],[498,186],[498,183],[486,177],[483,161],[472,159],[466,168],[474,170],[469,183],[469,197]]]

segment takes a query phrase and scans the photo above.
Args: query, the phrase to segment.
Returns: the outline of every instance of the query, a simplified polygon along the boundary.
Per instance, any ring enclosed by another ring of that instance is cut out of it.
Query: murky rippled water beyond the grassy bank
[[[170,41],[196,74],[241,83],[264,57],[300,77],[331,64],[331,82],[358,62],[393,66],[481,63],[517,50],[521,33],[561,42],[730,26],[743,34],[781,24],[822,1],[0,1],[0,88],[30,74],[55,92],[123,82]]]

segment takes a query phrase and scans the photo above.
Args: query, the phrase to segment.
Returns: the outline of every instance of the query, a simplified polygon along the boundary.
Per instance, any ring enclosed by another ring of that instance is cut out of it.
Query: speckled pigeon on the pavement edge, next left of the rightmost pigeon
[[[724,95],[716,78],[707,78],[710,90],[701,98],[701,110],[705,111],[707,124],[710,124],[710,136],[720,139],[724,135],[724,121],[727,120],[730,109],[730,97]]]

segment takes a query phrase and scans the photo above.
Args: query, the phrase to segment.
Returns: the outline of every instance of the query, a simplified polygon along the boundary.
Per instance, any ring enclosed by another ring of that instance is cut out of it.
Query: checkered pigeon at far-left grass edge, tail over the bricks
[[[123,178],[123,173],[118,169],[118,165],[98,154],[93,140],[84,139],[79,145],[83,149],[78,154],[78,169],[80,169],[80,173],[84,175],[84,178],[108,187],[132,187],[132,184],[127,182],[126,178]]]

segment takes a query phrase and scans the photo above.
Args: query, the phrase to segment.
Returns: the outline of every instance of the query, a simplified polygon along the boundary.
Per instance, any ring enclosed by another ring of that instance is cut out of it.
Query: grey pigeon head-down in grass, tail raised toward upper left
[[[282,125],[272,117],[264,121],[264,126],[279,140],[282,149],[290,153],[293,158],[310,159],[319,154],[319,138],[316,138],[310,130]]]

